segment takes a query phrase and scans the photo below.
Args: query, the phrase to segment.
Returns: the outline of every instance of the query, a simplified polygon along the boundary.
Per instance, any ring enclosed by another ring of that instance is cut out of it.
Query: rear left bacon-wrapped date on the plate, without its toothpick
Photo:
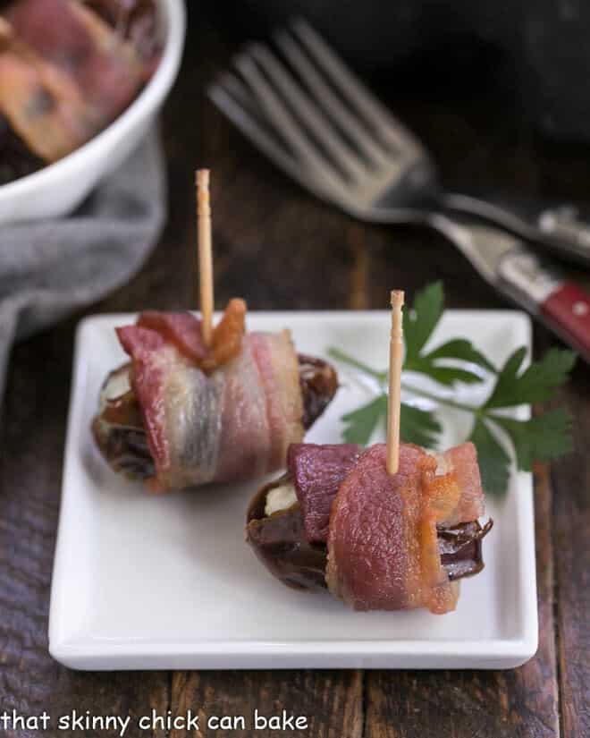
[[[131,361],[106,377],[92,424],[115,471],[168,491],[284,467],[338,377],[298,354],[287,330],[245,333],[245,315],[230,301],[208,346],[189,312],[144,312],[117,329]]]

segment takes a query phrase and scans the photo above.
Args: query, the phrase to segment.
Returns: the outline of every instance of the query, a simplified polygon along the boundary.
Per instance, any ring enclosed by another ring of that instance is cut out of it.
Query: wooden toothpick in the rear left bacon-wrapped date
[[[203,342],[210,346],[213,340],[213,256],[211,247],[211,206],[209,203],[209,170],[198,169],[197,222],[198,222],[198,274],[200,284],[201,316],[203,318]]]

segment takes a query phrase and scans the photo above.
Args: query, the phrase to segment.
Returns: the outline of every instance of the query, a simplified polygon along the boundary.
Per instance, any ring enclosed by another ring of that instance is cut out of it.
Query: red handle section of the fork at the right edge
[[[564,282],[540,305],[540,312],[555,333],[590,361],[590,293]]]

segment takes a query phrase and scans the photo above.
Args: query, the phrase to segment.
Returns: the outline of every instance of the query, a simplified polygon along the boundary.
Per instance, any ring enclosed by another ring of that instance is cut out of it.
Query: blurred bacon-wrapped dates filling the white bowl
[[[0,184],[102,131],[159,56],[153,0],[0,2]]]

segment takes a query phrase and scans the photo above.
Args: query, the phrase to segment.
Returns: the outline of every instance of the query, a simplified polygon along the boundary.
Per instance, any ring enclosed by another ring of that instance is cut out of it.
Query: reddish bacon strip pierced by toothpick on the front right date
[[[459,592],[441,563],[436,526],[483,513],[475,449],[451,449],[441,468],[423,449],[402,444],[393,476],[385,460],[385,446],[372,446],[341,483],[330,514],[328,587],[359,610],[449,612]]]

